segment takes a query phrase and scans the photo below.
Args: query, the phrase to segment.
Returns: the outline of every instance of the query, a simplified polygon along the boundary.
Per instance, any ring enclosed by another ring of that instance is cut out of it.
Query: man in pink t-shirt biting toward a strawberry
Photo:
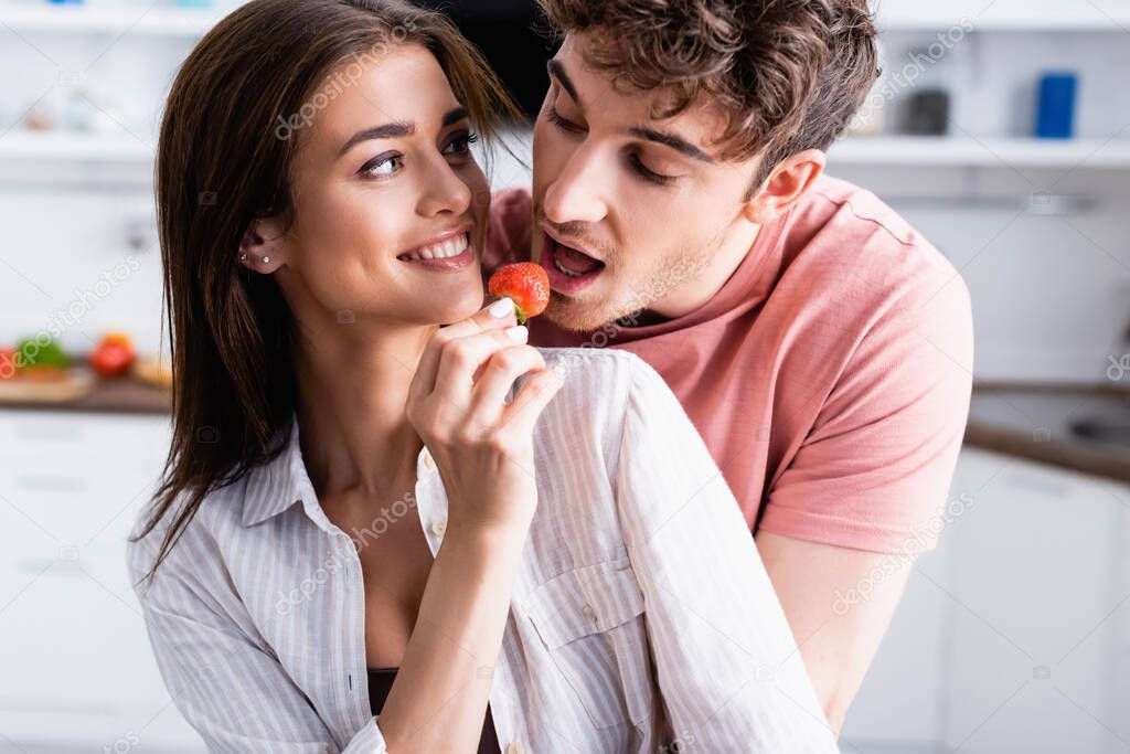
[[[740,501],[838,734],[936,546],[972,369],[953,267],[824,175],[877,76],[866,0],[540,0],[563,43],[533,190],[487,266],[554,288],[540,346],[663,375]]]

